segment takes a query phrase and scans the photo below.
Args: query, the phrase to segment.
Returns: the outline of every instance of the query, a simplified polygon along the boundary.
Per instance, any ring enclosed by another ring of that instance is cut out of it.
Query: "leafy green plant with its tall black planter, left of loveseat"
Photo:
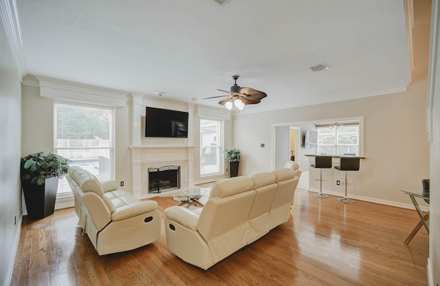
[[[35,153],[21,158],[21,186],[28,218],[43,219],[54,213],[58,179],[67,173],[69,159]]]

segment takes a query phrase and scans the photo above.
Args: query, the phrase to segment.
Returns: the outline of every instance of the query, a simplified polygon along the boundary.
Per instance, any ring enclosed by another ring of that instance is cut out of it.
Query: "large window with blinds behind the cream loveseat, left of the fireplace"
[[[101,181],[113,179],[113,108],[54,104],[54,153],[71,160]],[[72,192],[65,178],[58,194]]]

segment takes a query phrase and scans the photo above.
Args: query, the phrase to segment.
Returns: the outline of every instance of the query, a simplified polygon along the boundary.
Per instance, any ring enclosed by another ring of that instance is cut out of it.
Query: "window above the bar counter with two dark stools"
[[[359,155],[359,122],[317,124],[320,155]]]

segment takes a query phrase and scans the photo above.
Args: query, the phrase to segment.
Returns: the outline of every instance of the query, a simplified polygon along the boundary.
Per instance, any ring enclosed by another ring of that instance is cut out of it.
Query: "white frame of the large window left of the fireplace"
[[[76,107],[91,107],[91,108],[96,108],[96,109],[107,109],[107,110],[111,111],[111,129],[110,129],[111,146],[101,147],[101,148],[109,148],[110,179],[115,179],[115,108],[109,107],[109,106],[104,106],[104,105],[97,105],[97,104],[85,104],[85,103],[69,102],[69,101],[61,101],[61,100],[54,101],[54,126],[53,126],[54,127],[54,137],[53,137],[53,142],[54,142],[54,153],[55,154],[57,154],[59,150],[77,149],[74,147],[71,147],[71,148],[58,147],[55,144],[56,138],[57,138],[56,106],[59,104],[71,105],[71,106],[76,106]],[[85,148],[85,147],[81,147],[81,148]],[[90,148],[96,149],[96,147],[90,147]],[[67,159],[69,159],[69,158],[67,157]],[[74,165],[75,165],[74,161],[70,162],[70,166],[74,166]],[[69,190],[69,189],[67,189],[63,192],[59,191],[60,186],[65,186],[65,184],[67,184],[67,182],[64,182],[63,180],[65,180],[65,178],[61,179],[61,181],[60,181],[61,184],[58,184],[57,199],[58,199],[58,197],[63,199],[63,198],[67,198],[67,197],[72,197],[72,195],[73,195],[72,190]]]

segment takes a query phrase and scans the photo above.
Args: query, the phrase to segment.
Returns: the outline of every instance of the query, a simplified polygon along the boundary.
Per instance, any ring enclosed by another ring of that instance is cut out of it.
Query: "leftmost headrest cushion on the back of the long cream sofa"
[[[254,188],[254,181],[250,177],[232,177],[221,179],[212,185],[211,197],[229,197],[239,192],[245,192]]]

